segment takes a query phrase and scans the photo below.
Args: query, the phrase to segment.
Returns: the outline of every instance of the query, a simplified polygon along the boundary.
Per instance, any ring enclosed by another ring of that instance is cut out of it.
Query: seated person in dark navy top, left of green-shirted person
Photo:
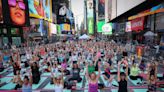
[[[80,77],[79,64],[77,64],[76,61],[73,62],[73,68],[72,68],[72,71],[71,71],[71,78],[69,79],[69,81],[75,81],[75,80],[77,82],[81,82],[81,80],[82,80],[82,78]]]

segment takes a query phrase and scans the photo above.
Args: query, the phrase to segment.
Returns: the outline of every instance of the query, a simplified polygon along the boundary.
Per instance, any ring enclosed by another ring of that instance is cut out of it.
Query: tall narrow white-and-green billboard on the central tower
[[[94,34],[94,19],[93,19],[93,0],[87,1],[87,26],[88,26],[88,33]]]

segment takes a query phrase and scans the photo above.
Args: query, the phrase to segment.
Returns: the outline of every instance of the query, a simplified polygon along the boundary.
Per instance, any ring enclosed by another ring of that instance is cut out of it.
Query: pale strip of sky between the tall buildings
[[[71,0],[72,11],[75,17],[75,25],[80,26],[84,18],[84,0]]]

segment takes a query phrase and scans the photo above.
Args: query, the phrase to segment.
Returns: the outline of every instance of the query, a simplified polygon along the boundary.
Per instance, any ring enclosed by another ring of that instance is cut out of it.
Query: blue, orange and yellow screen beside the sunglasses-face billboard
[[[30,17],[52,21],[52,0],[28,0]]]

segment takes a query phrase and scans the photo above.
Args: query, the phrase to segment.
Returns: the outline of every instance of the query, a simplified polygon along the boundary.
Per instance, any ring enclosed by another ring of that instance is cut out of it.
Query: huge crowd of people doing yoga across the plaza
[[[76,84],[82,82],[81,72],[84,72],[88,81],[88,91],[98,92],[99,88],[118,87],[118,92],[128,92],[128,77],[131,80],[140,79],[138,85],[148,85],[148,91],[156,91],[158,80],[157,61],[138,58],[133,46],[128,48],[115,42],[68,41],[54,44],[38,45],[34,49],[27,47],[25,53],[20,54],[19,48],[12,48],[10,55],[0,53],[0,72],[5,65],[13,67],[16,84],[15,90],[31,92],[32,85],[38,84],[44,72],[51,73],[51,84],[55,92],[63,89],[76,89]],[[24,56],[25,60],[22,61]],[[23,66],[22,66],[23,63]],[[116,71],[111,71],[116,65]],[[41,69],[46,66],[45,69]],[[26,69],[23,74],[22,69]],[[107,84],[99,83],[103,76]],[[24,79],[21,77],[24,76]],[[66,78],[64,78],[66,77]],[[118,85],[112,81],[117,78]],[[145,80],[145,81],[144,81]]]

